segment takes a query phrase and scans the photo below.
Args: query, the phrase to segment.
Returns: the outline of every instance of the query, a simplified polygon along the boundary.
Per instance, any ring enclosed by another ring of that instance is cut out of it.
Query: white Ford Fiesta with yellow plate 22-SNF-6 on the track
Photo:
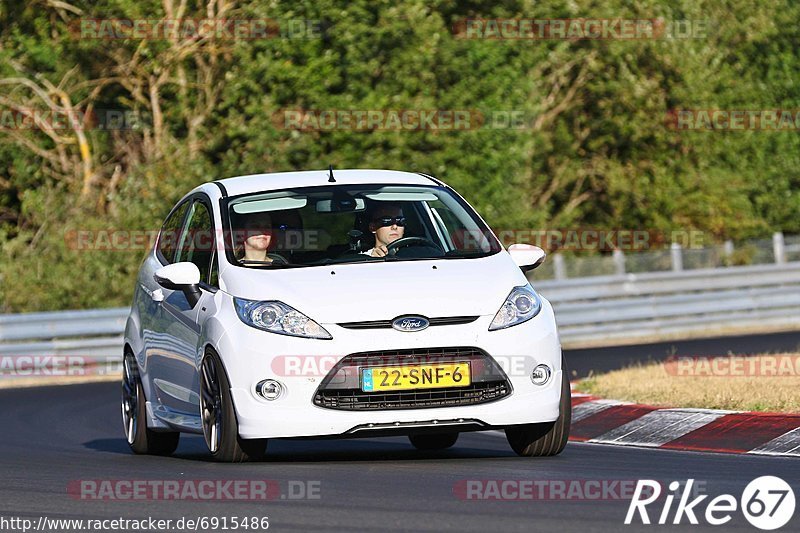
[[[406,435],[420,450],[504,430],[522,456],[566,445],[570,389],[553,310],[431,176],[262,174],[170,211],[125,329],[122,418],[136,453],[202,434],[220,461],[268,439]]]

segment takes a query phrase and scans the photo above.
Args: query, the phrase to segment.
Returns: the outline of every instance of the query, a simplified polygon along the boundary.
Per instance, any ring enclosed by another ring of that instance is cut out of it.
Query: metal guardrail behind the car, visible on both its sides
[[[800,329],[800,262],[536,281],[565,347]],[[121,355],[128,308],[0,315],[0,356]],[[0,375],[3,369],[0,367]]]

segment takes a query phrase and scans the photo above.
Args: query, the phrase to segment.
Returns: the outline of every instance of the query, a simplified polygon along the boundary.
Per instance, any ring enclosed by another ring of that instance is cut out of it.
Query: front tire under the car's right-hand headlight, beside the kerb
[[[558,455],[567,445],[571,421],[572,393],[569,388],[569,373],[562,356],[561,403],[556,421],[507,427],[506,438],[514,452],[522,457]]]

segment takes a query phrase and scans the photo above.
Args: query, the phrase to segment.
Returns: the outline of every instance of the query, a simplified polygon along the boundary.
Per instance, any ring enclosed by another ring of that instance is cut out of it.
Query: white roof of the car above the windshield
[[[239,196],[254,192],[294,189],[298,187],[326,186],[330,173],[328,170],[305,170],[300,172],[275,172],[271,174],[252,174],[217,180],[228,196]],[[333,177],[339,185],[438,185],[436,180],[399,170],[347,169],[333,170]]]

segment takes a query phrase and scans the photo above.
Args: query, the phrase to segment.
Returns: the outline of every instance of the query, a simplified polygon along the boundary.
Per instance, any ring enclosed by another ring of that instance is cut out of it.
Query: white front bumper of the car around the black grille
[[[446,426],[488,429],[554,421],[559,414],[562,369],[552,307],[544,300],[538,316],[505,330],[488,331],[491,320],[491,316],[482,316],[470,324],[429,327],[415,333],[323,324],[333,336],[327,341],[275,335],[240,324],[218,336],[215,348],[231,382],[243,438],[362,435],[388,429],[410,433]],[[419,409],[343,411],[314,405],[314,394],[325,374],[348,354],[444,346],[473,346],[492,356],[505,371],[511,394],[478,405]],[[537,386],[530,374],[542,363],[550,366],[553,374],[546,384]],[[274,401],[259,397],[255,386],[263,379],[280,381],[284,394]]]

